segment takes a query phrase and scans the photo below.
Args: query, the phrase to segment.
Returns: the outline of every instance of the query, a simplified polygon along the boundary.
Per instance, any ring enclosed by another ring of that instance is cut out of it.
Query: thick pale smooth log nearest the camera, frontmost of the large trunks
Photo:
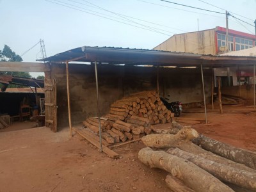
[[[147,164],[150,168],[166,170],[195,191],[233,191],[210,173],[180,157],[172,156],[163,151],[153,151],[149,147],[141,149],[138,157],[142,163]]]

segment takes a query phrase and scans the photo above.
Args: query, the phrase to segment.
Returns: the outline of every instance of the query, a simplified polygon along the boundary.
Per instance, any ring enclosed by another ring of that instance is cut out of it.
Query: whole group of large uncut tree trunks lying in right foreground
[[[138,157],[151,168],[166,170],[172,191],[256,191],[255,152],[212,140],[176,122],[170,132],[141,138],[147,147]]]

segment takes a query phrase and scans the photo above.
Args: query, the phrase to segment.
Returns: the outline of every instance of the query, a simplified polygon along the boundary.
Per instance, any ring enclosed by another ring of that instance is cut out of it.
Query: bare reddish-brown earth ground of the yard
[[[210,124],[193,128],[256,151],[255,115],[209,114]],[[204,114],[182,116],[202,118]],[[67,128],[55,134],[47,127],[6,130],[0,132],[0,191],[170,191],[165,171],[138,160],[138,151],[144,147],[141,141],[115,148],[121,158],[114,160],[76,134],[69,139]]]

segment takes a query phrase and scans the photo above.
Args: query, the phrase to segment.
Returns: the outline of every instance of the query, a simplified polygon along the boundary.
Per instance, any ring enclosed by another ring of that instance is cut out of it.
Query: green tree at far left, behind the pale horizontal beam
[[[22,58],[16,54],[8,45],[4,45],[3,51],[0,50],[0,61],[21,62]],[[16,77],[31,78],[29,72],[4,72],[4,74]]]

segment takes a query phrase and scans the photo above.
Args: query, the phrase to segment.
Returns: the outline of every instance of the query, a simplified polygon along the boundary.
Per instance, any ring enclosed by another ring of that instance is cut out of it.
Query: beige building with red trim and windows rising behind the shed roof
[[[229,51],[240,51],[255,47],[255,35],[228,29]],[[192,52],[195,54],[221,54],[227,52],[226,28],[216,27],[173,35],[154,47],[154,50]]]

